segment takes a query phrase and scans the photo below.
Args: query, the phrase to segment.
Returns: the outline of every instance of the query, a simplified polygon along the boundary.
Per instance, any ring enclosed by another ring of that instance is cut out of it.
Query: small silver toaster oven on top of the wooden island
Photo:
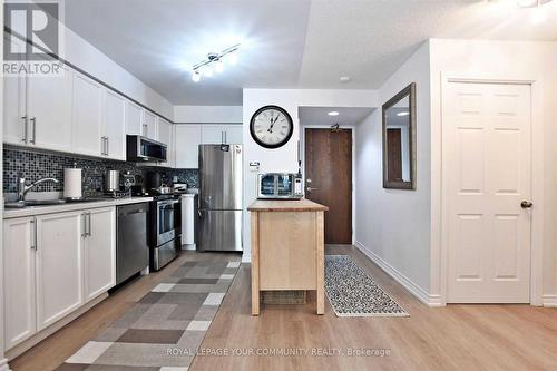
[[[300,199],[303,197],[302,178],[292,173],[257,175],[257,198]]]

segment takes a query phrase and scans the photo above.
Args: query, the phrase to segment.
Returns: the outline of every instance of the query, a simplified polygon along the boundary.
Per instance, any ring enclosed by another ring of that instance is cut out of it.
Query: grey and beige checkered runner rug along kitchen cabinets
[[[185,371],[240,262],[185,262],[58,371]]]

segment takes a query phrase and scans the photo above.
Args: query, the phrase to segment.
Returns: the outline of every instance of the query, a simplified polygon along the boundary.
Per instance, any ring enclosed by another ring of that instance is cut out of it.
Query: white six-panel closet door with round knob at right
[[[450,82],[443,94],[450,303],[527,303],[530,87]]]

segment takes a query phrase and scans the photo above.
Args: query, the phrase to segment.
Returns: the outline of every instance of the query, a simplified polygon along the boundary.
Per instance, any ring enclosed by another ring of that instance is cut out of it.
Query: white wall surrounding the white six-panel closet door
[[[534,238],[543,238],[543,292],[557,294],[557,42],[517,42],[488,40],[432,39],[431,43],[431,102],[432,102],[432,177],[441,176],[441,74],[491,79],[532,79],[541,87],[535,92],[532,107],[539,115],[543,135],[539,141],[534,137],[534,150],[540,152],[543,160],[535,160],[534,172],[543,174],[543,208],[540,230],[534,231]],[[535,154],[536,159],[536,154]],[[441,292],[440,275],[440,182],[432,187],[432,261],[431,292]],[[536,189],[535,189],[536,194]],[[539,201],[539,198],[538,198]],[[536,203],[536,199],[534,201]],[[540,222],[539,219],[537,222]],[[536,223],[536,221],[535,221]]]

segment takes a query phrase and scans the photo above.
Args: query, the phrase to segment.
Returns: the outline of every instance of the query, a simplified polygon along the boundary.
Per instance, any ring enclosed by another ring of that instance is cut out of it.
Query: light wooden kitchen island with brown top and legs
[[[252,314],[260,291],[315,290],[324,313],[324,212],[309,199],[257,199],[252,217]]]

